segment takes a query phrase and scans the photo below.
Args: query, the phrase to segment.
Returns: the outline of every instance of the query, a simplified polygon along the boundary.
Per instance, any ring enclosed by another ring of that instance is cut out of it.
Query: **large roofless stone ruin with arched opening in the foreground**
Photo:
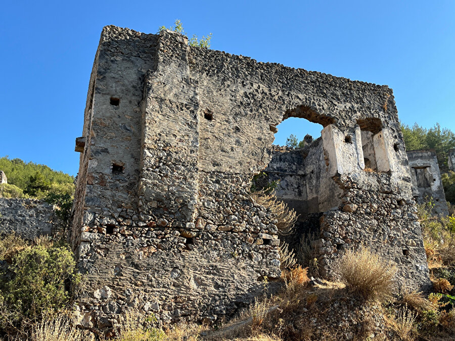
[[[289,117],[321,124],[322,136],[275,149]],[[398,285],[429,284],[387,86],[107,26],[76,150],[70,237],[85,277],[82,326],[106,328],[129,309],[213,322],[276,281],[277,220],[250,193],[264,169],[281,179],[299,228],[315,231],[325,276],[343,250],[367,243],[396,264]]]

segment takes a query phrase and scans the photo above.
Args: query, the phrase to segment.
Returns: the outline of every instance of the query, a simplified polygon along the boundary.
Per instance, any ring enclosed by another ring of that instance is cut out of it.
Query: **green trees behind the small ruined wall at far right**
[[[441,172],[448,170],[448,151],[455,148],[455,134],[436,123],[433,128],[426,129],[414,123],[412,127],[401,124],[406,150],[434,149],[438,157]]]

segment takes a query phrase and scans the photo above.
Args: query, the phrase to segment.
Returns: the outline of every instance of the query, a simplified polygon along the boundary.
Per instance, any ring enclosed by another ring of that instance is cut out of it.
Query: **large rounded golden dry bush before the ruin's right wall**
[[[336,273],[355,294],[367,301],[385,302],[392,297],[396,269],[365,246],[347,250],[336,263]]]

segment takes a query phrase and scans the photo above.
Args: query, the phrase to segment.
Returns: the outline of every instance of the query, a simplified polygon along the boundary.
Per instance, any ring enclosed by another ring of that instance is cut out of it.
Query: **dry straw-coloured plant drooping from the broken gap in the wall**
[[[264,206],[276,216],[278,220],[277,227],[280,233],[289,233],[297,221],[298,216],[293,209],[288,208],[284,202],[277,199],[275,191],[267,194],[266,191],[259,190],[254,192],[252,197],[256,204]]]

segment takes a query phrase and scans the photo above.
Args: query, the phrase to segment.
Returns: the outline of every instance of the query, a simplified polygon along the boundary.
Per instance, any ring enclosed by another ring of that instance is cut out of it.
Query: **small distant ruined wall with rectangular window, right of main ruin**
[[[434,212],[448,215],[438,159],[434,150],[407,151],[414,198],[419,204],[434,199]]]

